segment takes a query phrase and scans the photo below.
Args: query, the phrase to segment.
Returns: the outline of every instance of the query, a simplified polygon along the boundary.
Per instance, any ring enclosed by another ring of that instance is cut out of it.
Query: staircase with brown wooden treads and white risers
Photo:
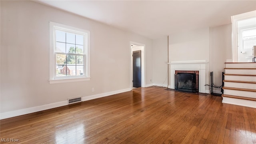
[[[256,108],[256,62],[226,62],[222,102]]]

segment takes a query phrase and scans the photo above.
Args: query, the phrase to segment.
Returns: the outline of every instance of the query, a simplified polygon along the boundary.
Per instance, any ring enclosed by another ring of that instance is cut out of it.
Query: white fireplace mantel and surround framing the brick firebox
[[[172,61],[170,63],[170,86],[174,89],[175,70],[199,70],[199,92],[206,93],[206,60]]]

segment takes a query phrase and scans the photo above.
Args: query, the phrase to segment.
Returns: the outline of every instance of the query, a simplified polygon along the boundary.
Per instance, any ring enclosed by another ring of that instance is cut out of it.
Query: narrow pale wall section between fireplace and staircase
[[[222,72],[225,72],[225,62],[232,59],[232,24],[210,28],[210,72],[213,72],[213,82],[222,85]],[[220,92],[220,88],[214,88]]]

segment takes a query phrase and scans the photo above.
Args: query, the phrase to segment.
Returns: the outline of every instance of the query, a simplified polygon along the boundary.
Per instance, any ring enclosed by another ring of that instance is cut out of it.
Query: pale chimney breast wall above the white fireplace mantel
[[[169,35],[169,62],[206,60],[209,62],[209,28]],[[210,83],[209,63],[206,64],[206,84]],[[206,87],[206,90],[209,90]]]

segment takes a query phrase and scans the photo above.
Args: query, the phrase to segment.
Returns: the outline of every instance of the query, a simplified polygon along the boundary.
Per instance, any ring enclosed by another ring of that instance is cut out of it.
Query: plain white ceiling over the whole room
[[[156,39],[230,24],[230,16],[256,10],[256,0],[36,0],[122,30]]]

